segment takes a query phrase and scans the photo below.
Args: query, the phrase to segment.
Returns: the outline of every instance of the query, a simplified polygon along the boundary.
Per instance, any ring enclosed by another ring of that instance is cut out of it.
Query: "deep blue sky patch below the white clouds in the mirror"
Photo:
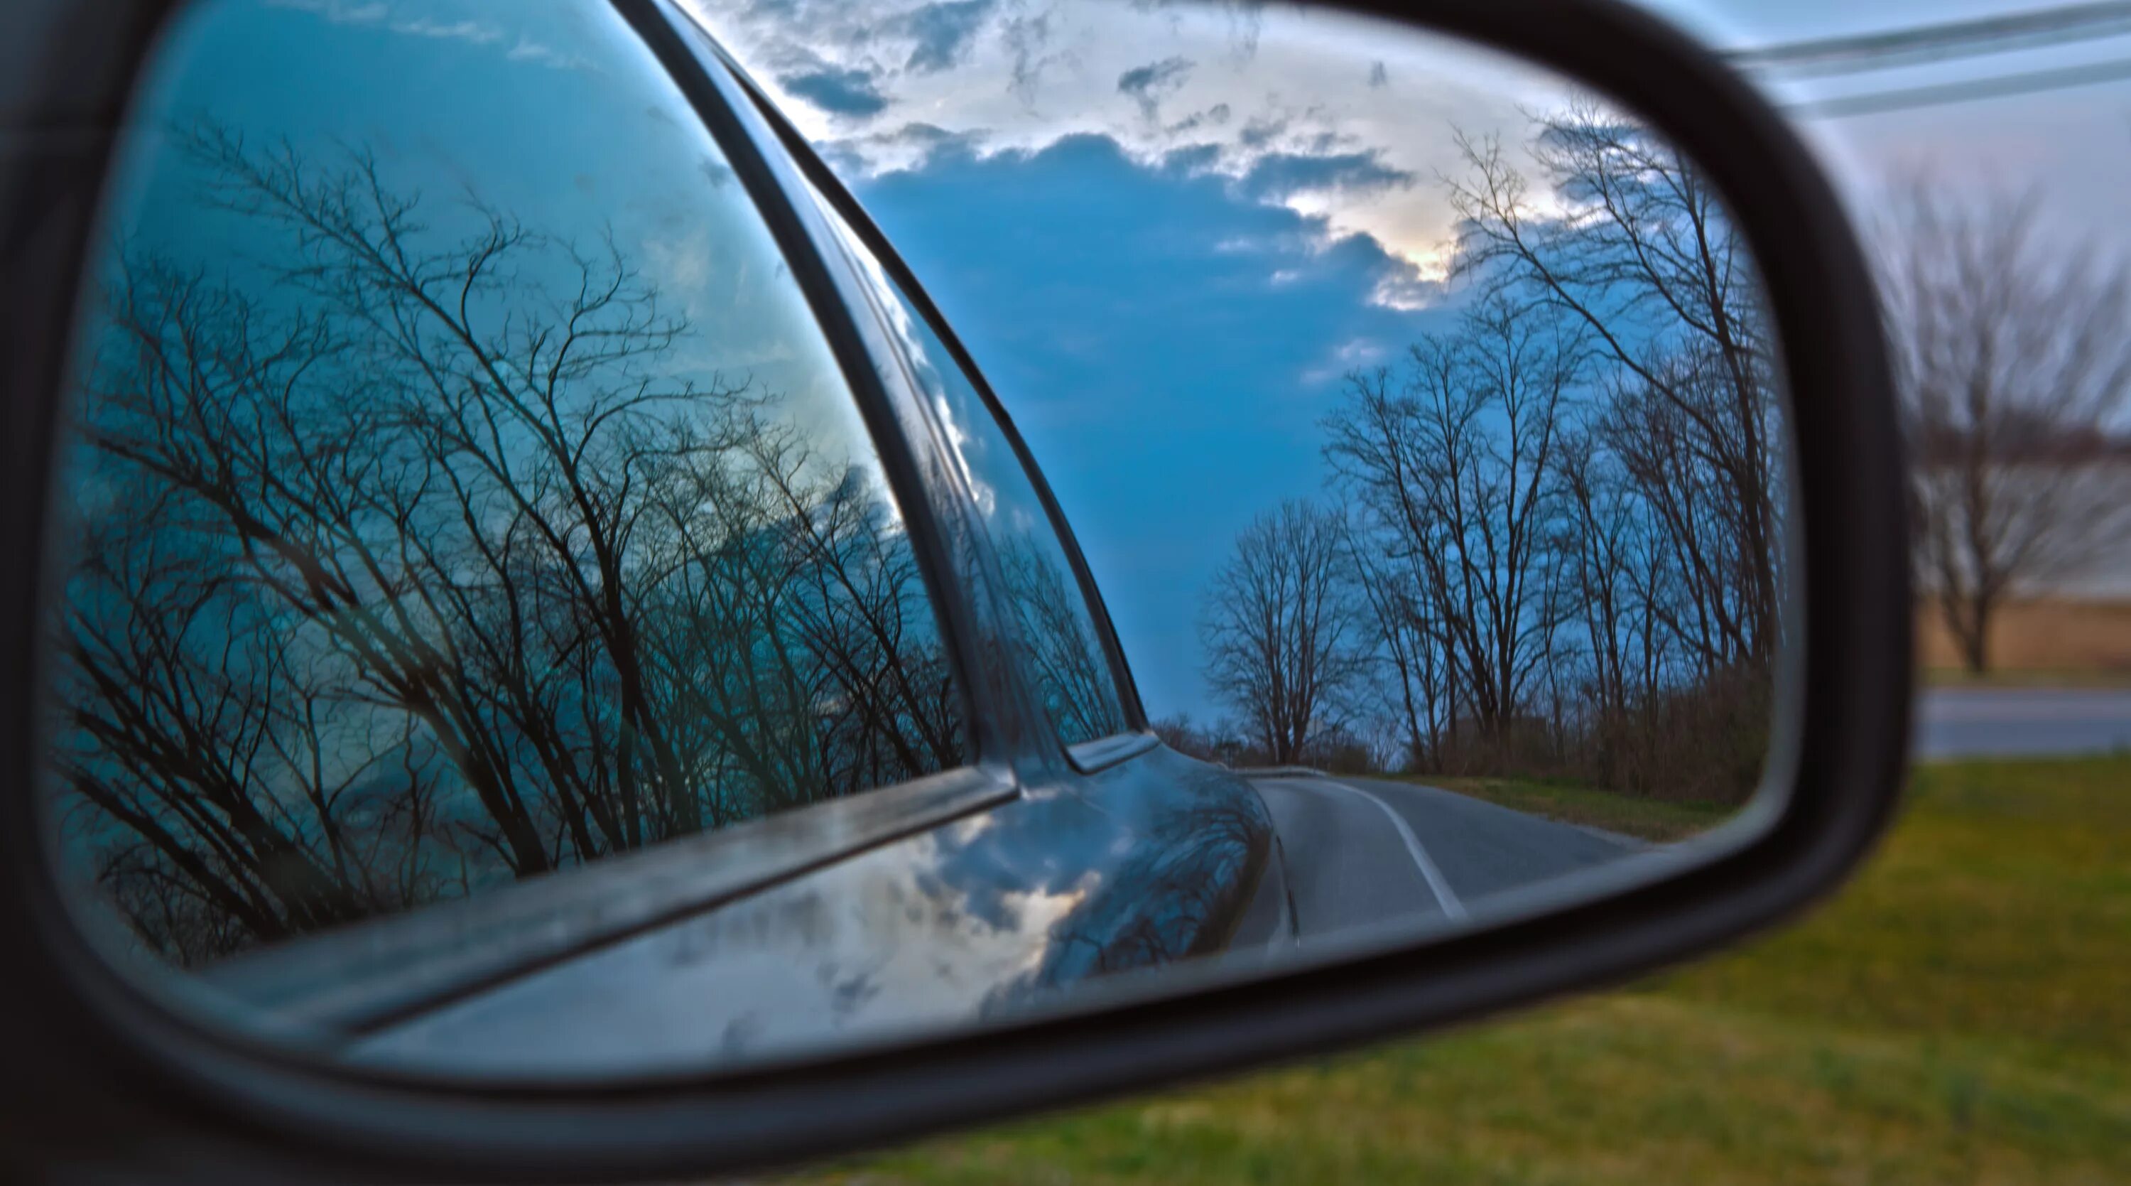
[[[1027,433],[1151,710],[1208,710],[1198,589],[1242,525],[1319,486],[1317,418],[1349,365],[1434,314],[1377,241],[1117,141],[936,156],[859,190]]]

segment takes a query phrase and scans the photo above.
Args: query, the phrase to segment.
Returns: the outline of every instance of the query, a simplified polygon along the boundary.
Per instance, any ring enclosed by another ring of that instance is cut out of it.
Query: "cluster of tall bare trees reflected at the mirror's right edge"
[[[1596,105],[1534,119],[1532,173],[1464,149],[1464,316],[1325,418],[1377,712],[1421,768],[1743,796],[1788,578],[1750,252],[1690,160]]]

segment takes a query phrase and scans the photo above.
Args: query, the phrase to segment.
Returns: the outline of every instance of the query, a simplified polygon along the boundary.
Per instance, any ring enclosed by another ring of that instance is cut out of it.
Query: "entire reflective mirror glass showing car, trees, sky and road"
[[[637,19],[162,38],[45,614],[51,851],[128,975],[367,1067],[701,1071],[1773,815],[1779,343],[1634,113],[1323,11]]]

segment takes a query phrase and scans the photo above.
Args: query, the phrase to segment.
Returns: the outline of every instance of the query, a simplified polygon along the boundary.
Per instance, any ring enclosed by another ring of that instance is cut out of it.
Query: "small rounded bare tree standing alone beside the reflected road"
[[[1200,616],[1206,683],[1270,762],[1300,762],[1364,674],[1362,621],[1338,514],[1283,501],[1236,535]]]

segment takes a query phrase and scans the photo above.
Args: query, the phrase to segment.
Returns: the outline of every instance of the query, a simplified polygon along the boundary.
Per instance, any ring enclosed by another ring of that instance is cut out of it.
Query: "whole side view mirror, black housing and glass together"
[[[0,1158],[754,1171],[1831,892],[1912,597],[1828,181],[1611,0],[1215,9],[0,17]]]

